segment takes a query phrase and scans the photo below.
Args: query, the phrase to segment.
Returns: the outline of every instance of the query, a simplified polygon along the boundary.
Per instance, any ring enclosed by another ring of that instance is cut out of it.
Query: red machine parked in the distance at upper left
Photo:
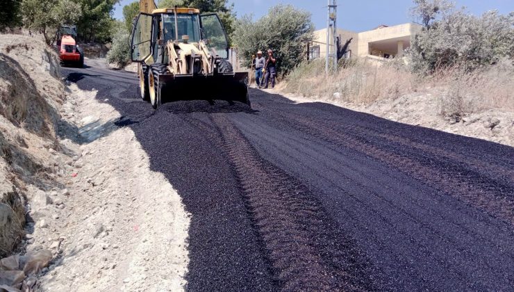
[[[63,25],[57,32],[57,48],[63,65],[84,66],[84,53],[76,44],[76,26]]]

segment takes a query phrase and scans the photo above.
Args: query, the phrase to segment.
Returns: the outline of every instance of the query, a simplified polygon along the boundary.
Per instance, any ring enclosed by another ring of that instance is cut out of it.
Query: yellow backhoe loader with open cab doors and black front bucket
[[[195,8],[157,8],[140,1],[131,33],[140,96],[154,108],[165,101],[215,99],[250,104],[248,73],[233,72],[219,17]]]

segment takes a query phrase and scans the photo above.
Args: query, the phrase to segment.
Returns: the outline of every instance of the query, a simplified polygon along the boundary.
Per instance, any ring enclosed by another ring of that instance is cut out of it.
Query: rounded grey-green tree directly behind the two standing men
[[[256,51],[273,49],[279,58],[277,70],[287,74],[306,57],[306,44],[312,42],[313,31],[310,13],[290,5],[278,5],[256,22],[251,15],[238,19],[233,42],[238,47],[238,55],[248,67]]]

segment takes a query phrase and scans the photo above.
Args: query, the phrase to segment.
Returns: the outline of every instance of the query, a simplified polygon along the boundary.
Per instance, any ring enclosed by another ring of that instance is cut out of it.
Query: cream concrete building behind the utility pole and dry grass
[[[411,45],[411,36],[421,30],[418,24],[399,24],[395,26],[381,25],[371,31],[354,33],[338,29],[341,44],[353,38],[349,44],[346,58],[378,57],[395,58],[403,55],[404,49]],[[333,37],[331,29],[330,51],[333,52]],[[309,58],[324,58],[326,56],[326,29],[314,32],[314,42],[309,46]]]

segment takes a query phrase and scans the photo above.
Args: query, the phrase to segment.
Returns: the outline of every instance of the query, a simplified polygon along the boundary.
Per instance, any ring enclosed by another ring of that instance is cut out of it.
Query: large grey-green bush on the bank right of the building
[[[488,11],[476,17],[465,10],[443,9],[420,18],[425,26],[413,37],[408,54],[416,72],[453,65],[474,70],[514,58],[514,13]]]

